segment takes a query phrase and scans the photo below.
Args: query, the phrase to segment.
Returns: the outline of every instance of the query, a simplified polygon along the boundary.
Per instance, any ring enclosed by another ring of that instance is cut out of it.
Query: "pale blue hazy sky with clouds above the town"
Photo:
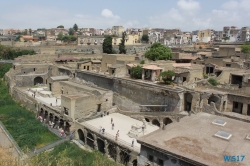
[[[250,0],[0,0],[0,29],[250,26]]]

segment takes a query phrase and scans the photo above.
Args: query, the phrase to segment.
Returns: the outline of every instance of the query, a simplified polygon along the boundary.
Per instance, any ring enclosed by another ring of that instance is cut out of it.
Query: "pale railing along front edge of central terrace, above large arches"
[[[109,138],[110,140],[114,140],[114,142],[116,142],[117,144],[120,144],[120,145],[124,145],[126,148],[128,148],[129,150],[131,150],[131,151],[135,151],[135,152],[140,152],[140,147],[139,146],[135,146],[135,145],[133,145],[133,147],[132,147],[132,143],[130,144],[130,143],[127,143],[126,141],[124,141],[124,140],[122,140],[121,138],[117,138],[117,140],[116,140],[116,137],[115,136],[113,136],[113,135],[111,135],[111,134],[109,134],[109,133],[107,133],[107,132],[105,132],[105,133],[102,133],[102,132],[100,132],[100,129],[98,129],[98,128],[96,128],[96,127],[94,127],[94,126],[92,126],[92,125],[90,125],[90,124],[87,124],[86,122],[83,122],[83,123],[81,123],[84,127],[86,127],[86,128],[88,128],[89,130],[91,130],[91,131],[94,131],[94,132],[96,132],[96,133],[99,133],[99,135],[103,135],[104,137],[107,137],[107,138]]]

